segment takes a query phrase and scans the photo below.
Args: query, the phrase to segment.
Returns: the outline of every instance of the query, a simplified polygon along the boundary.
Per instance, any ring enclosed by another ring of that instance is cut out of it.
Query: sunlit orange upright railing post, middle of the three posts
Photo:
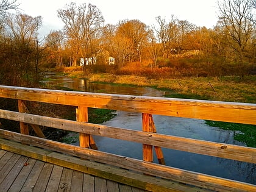
[[[76,108],[76,120],[79,122],[88,122],[88,108],[84,106],[78,106]],[[80,147],[90,147],[90,135],[87,133],[79,133]]]

